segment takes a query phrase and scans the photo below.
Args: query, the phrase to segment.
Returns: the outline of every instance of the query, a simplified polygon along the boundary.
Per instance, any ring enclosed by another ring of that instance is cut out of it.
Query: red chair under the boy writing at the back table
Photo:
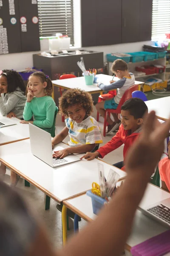
[[[105,120],[104,120],[104,127],[103,127],[103,136],[106,136],[106,125],[107,125],[107,117],[111,115],[111,113],[117,113],[120,114],[121,113],[121,107],[123,105],[123,103],[125,101],[127,101],[127,99],[132,98],[132,93],[133,91],[138,90],[138,85],[133,85],[131,87],[129,87],[125,93],[122,96],[122,99],[119,102],[119,105],[117,106],[116,109],[106,109],[105,110]]]

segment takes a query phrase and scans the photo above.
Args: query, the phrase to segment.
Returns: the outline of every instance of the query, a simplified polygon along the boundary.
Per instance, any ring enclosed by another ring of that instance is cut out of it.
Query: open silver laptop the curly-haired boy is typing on
[[[31,153],[38,157],[43,162],[47,163],[51,167],[58,167],[68,163],[74,163],[79,161],[79,157],[74,154],[69,154],[66,157],[53,158],[52,145],[51,145],[51,134],[38,128],[35,125],[29,123],[29,135],[31,144]],[[55,147],[55,151],[64,149],[62,147]]]

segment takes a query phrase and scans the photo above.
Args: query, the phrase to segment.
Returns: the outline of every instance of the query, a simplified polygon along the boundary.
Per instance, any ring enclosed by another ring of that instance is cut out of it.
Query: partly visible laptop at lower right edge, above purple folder
[[[156,219],[167,227],[170,227],[170,198],[158,201],[148,206],[139,206],[139,209],[151,218]]]

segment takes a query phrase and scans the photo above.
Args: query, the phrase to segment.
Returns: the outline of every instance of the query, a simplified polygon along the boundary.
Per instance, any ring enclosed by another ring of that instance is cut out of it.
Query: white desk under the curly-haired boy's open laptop
[[[68,147],[64,143],[58,145],[63,148]],[[82,155],[79,154],[79,156]],[[99,183],[98,161],[97,159],[92,161],[81,160],[52,168],[31,154],[29,139],[0,147],[0,162],[59,203],[83,194],[91,188],[94,181]],[[120,169],[102,161],[100,163],[104,165],[106,178],[110,169],[119,173],[121,178],[126,176],[126,173]]]

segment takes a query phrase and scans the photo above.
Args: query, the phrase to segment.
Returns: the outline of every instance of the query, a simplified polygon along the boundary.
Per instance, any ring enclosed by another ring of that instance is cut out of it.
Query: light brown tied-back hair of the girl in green
[[[45,95],[46,96],[51,96],[52,95],[52,93],[53,93],[53,84],[52,84],[51,79],[48,76],[45,76],[45,74],[43,72],[40,72],[40,71],[32,73],[29,76],[29,78],[31,76],[39,77],[42,83],[47,82],[47,86],[44,88]],[[28,84],[27,84],[27,88],[26,88],[26,96],[27,96],[27,93],[28,93],[29,78],[28,78]]]

